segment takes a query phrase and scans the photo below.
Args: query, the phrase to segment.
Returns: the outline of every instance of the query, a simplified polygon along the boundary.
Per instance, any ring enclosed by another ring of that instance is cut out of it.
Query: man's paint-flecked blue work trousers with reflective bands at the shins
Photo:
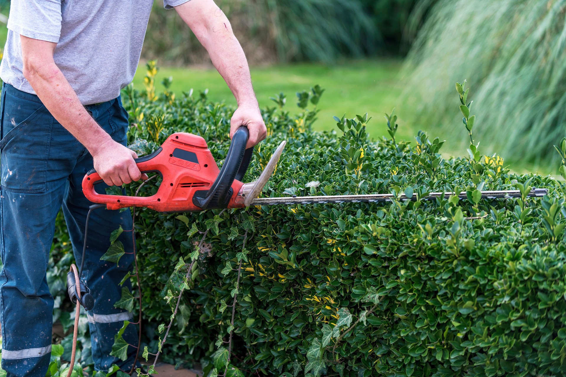
[[[112,138],[126,145],[128,114],[120,98],[86,106]],[[53,118],[40,99],[3,84],[0,102],[0,322],[2,369],[10,376],[44,377],[49,365],[53,296],[46,271],[53,242],[55,217],[63,209],[73,252],[80,266],[85,220],[91,202],[82,180],[92,169],[92,156]],[[125,362],[110,356],[114,335],[132,314],[114,307],[121,297],[119,282],[133,262],[132,235],[119,240],[127,253],[116,263],[101,261],[110,246],[110,233],[132,229],[130,211],[94,210],[89,219],[83,279],[95,298],[88,312],[92,357],[96,370],[112,363],[130,367],[135,349]],[[130,287],[129,281],[125,285]],[[124,339],[137,345],[136,326]]]

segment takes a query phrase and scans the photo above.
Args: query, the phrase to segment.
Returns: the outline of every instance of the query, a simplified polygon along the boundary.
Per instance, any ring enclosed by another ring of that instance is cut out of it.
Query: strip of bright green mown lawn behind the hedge
[[[316,84],[326,91],[319,103],[319,120],[316,129],[332,129],[336,122],[332,116],[354,117],[356,114],[368,112],[371,120],[368,131],[372,137],[385,135],[383,112],[395,107],[399,89],[396,87],[397,75],[401,67],[399,60],[363,60],[323,66],[319,64],[291,64],[251,68],[252,80],[260,106],[275,105],[269,97],[283,92],[287,96],[286,109],[297,110],[296,92],[310,90]],[[135,88],[142,89],[145,66],[140,64],[134,78]],[[164,77],[172,76],[171,89],[177,93],[188,92],[191,88],[208,89],[208,96],[213,101],[225,101],[235,105],[235,99],[222,77],[214,70],[204,68],[167,68],[161,67],[157,73],[156,83]],[[161,84],[157,84],[162,89]],[[412,138],[413,132],[399,129],[402,138]]]

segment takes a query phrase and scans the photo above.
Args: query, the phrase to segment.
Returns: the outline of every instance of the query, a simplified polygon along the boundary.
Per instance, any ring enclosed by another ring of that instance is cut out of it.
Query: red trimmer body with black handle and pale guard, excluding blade
[[[204,138],[177,132],[155,152],[135,160],[141,172],[156,172],[162,178],[160,187],[152,196],[97,193],[95,185],[102,179],[95,170],[85,175],[83,192],[88,200],[105,204],[109,210],[148,207],[169,213],[247,207],[250,198],[258,196],[267,183],[285,147],[285,141],[281,142],[259,179],[245,184],[241,180],[253,151],[253,148],[245,149],[247,139],[247,128],[239,128],[220,169]]]

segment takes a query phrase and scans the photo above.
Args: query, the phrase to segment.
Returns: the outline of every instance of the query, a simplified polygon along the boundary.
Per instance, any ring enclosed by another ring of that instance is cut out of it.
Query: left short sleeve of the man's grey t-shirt
[[[61,0],[12,0],[8,29],[48,42],[59,42]]]

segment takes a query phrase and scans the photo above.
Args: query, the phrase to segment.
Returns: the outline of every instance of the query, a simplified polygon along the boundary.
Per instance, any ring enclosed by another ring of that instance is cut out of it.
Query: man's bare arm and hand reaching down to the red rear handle
[[[108,185],[139,180],[136,154],[112,140],[81,105],[79,97],[53,60],[57,44],[20,36],[23,75],[55,119],[88,149],[95,169]]]

